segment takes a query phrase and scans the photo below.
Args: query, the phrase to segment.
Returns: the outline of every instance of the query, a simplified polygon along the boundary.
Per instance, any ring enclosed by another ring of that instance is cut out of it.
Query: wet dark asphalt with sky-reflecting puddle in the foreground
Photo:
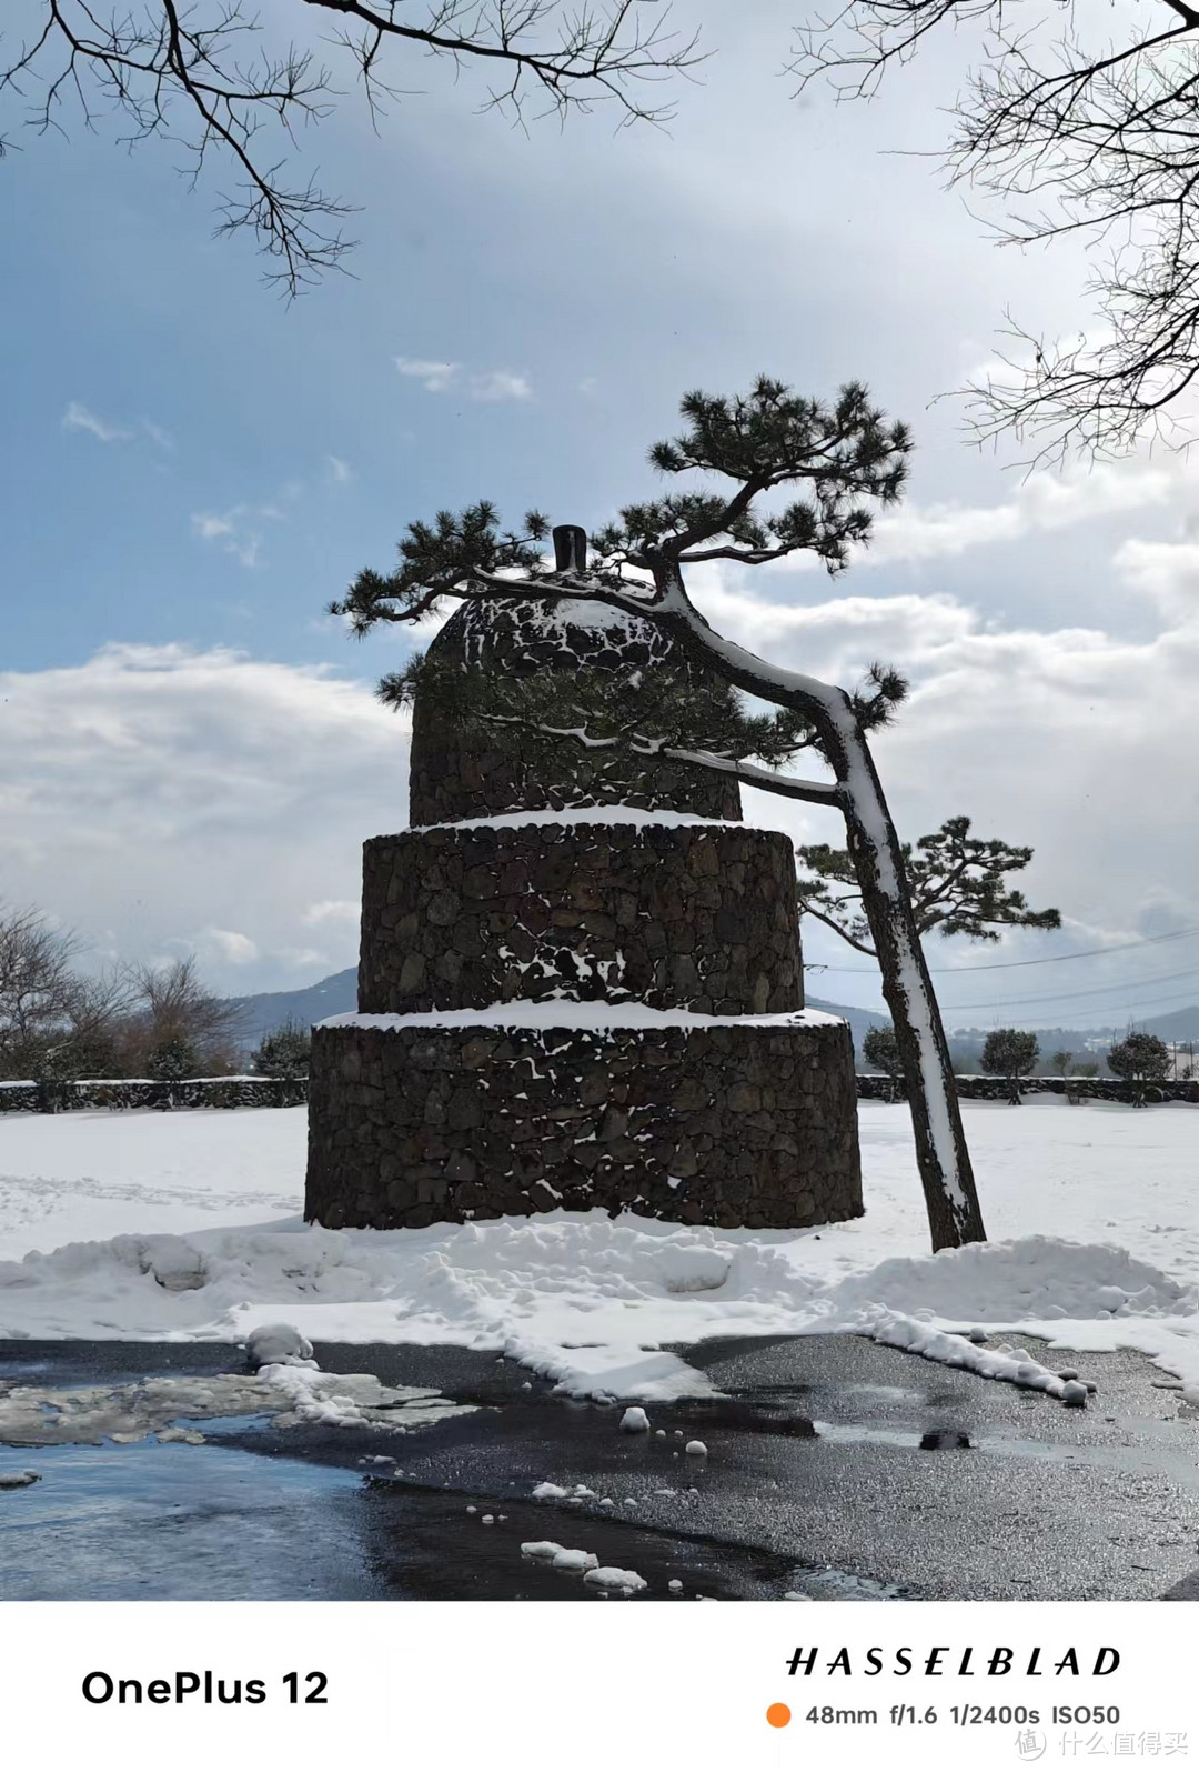
[[[101,1386],[161,1426],[165,1377],[211,1398],[170,1418],[204,1444],[0,1444],[0,1480],[41,1473],[0,1488],[0,1598],[593,1597],[531,1540],[671,1600],[1156,1598],[1199,1565],[1199,1414],[1132,1354],[1070,1361],[1100,1386],[1079,1412],[864,1340],[708,1341],[687,1357],[728,1400],[648,1405],[648,1435],[489,1354],[317,1357],[423,1393],[427,1425],[273,1425],[214,1343],[0,1343],[9,1400]],[[214,1416],[237,1386],[244,1412]]]

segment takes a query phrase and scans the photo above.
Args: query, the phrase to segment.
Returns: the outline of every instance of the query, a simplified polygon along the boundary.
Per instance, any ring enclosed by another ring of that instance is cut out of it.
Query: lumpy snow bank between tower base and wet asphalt
[[[710,1389],[662,1343],[841,1331],[1063,1395],[1025,1350],[949,1333],[985,1324],[1070,1347],[1141,1347],[1199,1379],[1197,1288],[1112,1244],[1024,1237],[838,1279],[802,1271],[795,1242],[600,1212],[425,1232],[283,1219],[122,1235],[0,1263],[0,1338],[244,1341],[285,1317],[312,1341],[496,1348],[572,1395],[645,1402]],[[303,1382],[294,1368],[276,1373]]]

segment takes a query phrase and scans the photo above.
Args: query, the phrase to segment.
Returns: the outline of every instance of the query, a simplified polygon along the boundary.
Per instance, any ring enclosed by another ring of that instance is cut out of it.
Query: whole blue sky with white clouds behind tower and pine
[[[668,133],[600,113],[524,135],[423,62],[377,138],[347,97],[299,159],[361,204],[354,276],[292,307],[250,241],[211,237],[228,179],[188,195],[170,147],[74,128],[4,159],[2,900],[97,955],[195,950],[230,992],[351,966],[361,840],[406,819],[404,727],[370,689],[407,641],[354,645],[322,606],[443,505],[599,525],[654,491],[645,452],[685,388],[767,370],[864,379],[916,431],[909,496],[836,581],[707,569],[698,601],[804,670],[909,672],[877,744],[901,835],[967,812],[1033,843],[1027,895],[1066,916],[933,964],[1199,929],[1199,468],[1024,477],[937,402],[1006,308],[1086,319],[1073,252],[997,250],[928,158],[887,152],[939,145],[969,46],[868,108],[797,103],[788,5],[677,12],[714,55]],[[841,968],[815,994],[878,1003],[834,937],[808,955]],[[1118,1022],[1199,999],[1199,937],[940,982],[951,1024]]]

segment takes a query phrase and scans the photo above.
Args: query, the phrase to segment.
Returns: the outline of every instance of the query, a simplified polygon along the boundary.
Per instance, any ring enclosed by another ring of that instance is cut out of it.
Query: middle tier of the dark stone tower
[[[788,836],[749,826],[434,826],[363,845],[358,1008],[636,999],[804,1006]]]

